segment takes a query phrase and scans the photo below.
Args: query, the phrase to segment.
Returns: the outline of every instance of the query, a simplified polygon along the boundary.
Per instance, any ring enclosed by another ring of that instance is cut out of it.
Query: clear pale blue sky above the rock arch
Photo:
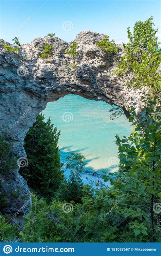
[[[0,7],[0,37],[12,42],[18,36],[21,44],[52,32],[70,42],[86,29],[127,42],[127,27],[132,30],[136,21],[151,15],[161,27],[158,0],[1,0]]]

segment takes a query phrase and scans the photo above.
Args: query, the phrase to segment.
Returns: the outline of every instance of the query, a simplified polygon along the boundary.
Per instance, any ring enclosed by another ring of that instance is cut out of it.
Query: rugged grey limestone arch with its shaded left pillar
[[[70,68],[73,59],[65,53],[69,48],[68,43],[57,37],[38,37],[30,44],[23,44],[19,54],[11,54],[1,47],[0,129],[7,132],[18,163],[21,157],[24,162],[27,161],[24,137],[48,102],[67,94],[78,94],[86,99],[120,106],[126,116],[128,107],[134,102],[140,109],[142,92],[127,88],[126,82],[130,77],[121,79],[112,75],[111,67],[116,68],[114,56],[96,47],[96,43],[103,38],[103,34],[89,30],[76,36],[75,41],[79,46],[76,68]],[[48,59],[41,59],[39,55],[45,42],[53,46],[52,55]],[[122,45],[119,48],[122,55]],[[1,192],[6,193],[8,202],[4,213],[15,214],[20,209],[18,214],[26,213],[31,204],[30,190],[18,170],[19,164],[10,174],[0,175]],[[17,198],[12,196],[14,190],[19,190]]]

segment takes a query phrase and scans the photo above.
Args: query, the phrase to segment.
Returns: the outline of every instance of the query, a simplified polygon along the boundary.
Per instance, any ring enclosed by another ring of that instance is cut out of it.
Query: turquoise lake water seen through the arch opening
[[[86,157],[86,167],[95,171],[118,170],[118,146],[115,135],[128,136],[131,123],[125,116],[110,120],[108,110],[112,106],[105,102],[86,100],[78,95],[47,104],[43,113],[60,130],[59,149],[62,162],[71,152]]]

